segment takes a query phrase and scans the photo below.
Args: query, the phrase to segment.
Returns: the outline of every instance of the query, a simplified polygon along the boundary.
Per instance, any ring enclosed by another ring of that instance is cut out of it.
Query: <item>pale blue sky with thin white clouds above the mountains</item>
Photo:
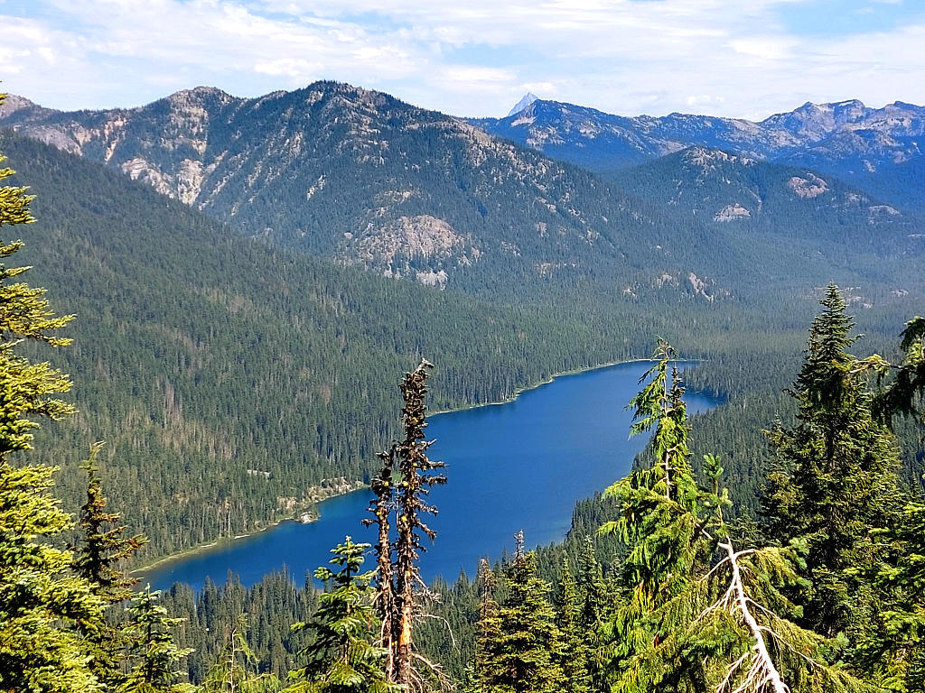
[[[457,116],[925,103],[925,0],[0,0],[0,90],[52,108],[317,79]]]

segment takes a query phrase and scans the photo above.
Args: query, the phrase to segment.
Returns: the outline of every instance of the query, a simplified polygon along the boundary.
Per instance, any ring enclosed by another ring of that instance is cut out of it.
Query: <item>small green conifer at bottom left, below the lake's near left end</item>
[[[119,693],[184,693],[191,688],[177,682],[178,663],[192,651],[174,642],[173,630],[183,619],[169,617],[160,596],[160,591],[145,588],[129,607],[124,637],[129,642],[130,671]]]

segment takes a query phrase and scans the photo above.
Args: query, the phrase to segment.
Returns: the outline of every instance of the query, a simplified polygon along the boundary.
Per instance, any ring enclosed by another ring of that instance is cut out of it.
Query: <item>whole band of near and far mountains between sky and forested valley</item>
[[[919,107],[805,106],[761,124],[623,118],[532,94],[516,107],[466,121],[315,82],[71,113],[10,97],[0,128],[115,168],[247,237],[491,298],[591,283],[713,299],[749,282],[876,274],[845,261],[848,243],[920,252],[914,201],[886,202],[853,187],[857,176],[843,183],[796,160],[878,123],[908,140],[915,165]]]

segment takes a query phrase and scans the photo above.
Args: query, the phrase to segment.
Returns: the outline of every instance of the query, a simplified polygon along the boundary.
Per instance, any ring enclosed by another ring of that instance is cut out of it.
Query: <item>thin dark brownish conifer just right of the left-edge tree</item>
[[[87,502],[80,507],[83,541],[74,553],[74,571],[90,583],[93,594],[107,607],[113,607],[132,597],[131,587],[138,580],[129,577],[122,563],[147,540],[141,534],[124,536],[125,527],[118,524],[119,515],[106,512],[107,501],[96,466],[96,455],[102,445],[94,444],[81,465],[87,472]],[[84,624],[81,630],[93,654],[93,673],[105,686],[115,688],[122,678],[127,643],[121,628],[114,623],[114,615],[101,615],[101,619]]]

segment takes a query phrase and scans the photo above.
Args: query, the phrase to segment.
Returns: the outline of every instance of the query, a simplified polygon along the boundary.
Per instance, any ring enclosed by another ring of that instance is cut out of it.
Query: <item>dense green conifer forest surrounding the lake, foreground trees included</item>
[[[0,690],[925,687],[925,319],[900,319],[903,301],[860,343],[834,284],[773,342],[771,309],[676,295],[645,325],[630,299],[566,320],[245,243],[41,145],[4,151],[20,174],[0,170]],[[466,338],[486,324],[494,341]],[[426,492],[451,483],[427,457],[427,408],[648,353],[652,334],[709,359],[689,382],[727,405],[689,420],[659,339],[629,403],[651,435],[632,473],[578,505],[560,545],[521,535],[474,582],[426,586]],[[370,483],[357,522],[379,540],[331,547],[323,591],[284,574],[161,594],[126,573],[145,546],[254,529],[291,511],[281,493],[307,505],[339,477]]]

